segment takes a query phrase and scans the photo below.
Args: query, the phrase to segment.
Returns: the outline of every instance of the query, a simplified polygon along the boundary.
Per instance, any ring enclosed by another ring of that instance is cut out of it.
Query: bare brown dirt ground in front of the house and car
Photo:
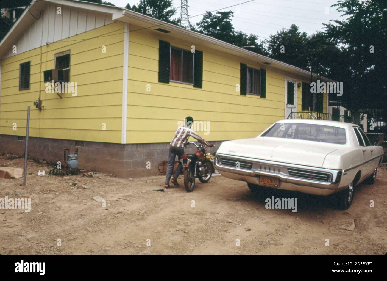
[[[0,157],[0,166],[23,167],[23,159]],[[0,179],[0,198],[31,198],[29,213],[0,209],[0,254],[387,252],[385,165],[375,184],[355,189],[346,211],[336,209],[330,197],[272,189],[255,194],[246,183],[219,174],[207,184],[197,181],[187,193],[183,187],[155,191],[163,188],[163,176],[38,177],[43,169],[49,168],[28,162],[27,186],[21,186],[22,178]],[[182,186],[182,177],[178,181]],[[106,207],[93,196],[105,199]],[[271,196],[298,198],[298,211],[266,209]]]

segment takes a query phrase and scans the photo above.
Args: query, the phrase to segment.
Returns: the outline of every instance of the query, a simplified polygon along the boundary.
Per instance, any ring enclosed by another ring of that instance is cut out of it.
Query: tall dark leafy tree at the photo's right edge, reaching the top
[[[350,62],[347,78],[352,94],[347,99],[352,109],[386,109],[387,1],[342,0],[333,6],[348,16],[325,24],[325,28],[327,37],[337,40]]]

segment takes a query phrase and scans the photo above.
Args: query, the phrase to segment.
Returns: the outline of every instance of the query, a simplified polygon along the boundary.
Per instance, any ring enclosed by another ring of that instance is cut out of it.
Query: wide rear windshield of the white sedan
[[[293,138],[340,145],[347,142],[344,128],[305,123],[276,123],[261,136]]]

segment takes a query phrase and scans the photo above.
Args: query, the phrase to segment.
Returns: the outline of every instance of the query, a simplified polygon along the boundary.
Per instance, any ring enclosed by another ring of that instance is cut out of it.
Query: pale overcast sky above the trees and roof
[[[117,7],[125,7],[137,4],[139,0],[108,0]],[[247,0],[188,0],[188,14],[190,23],[195,24],[202,19],[206,11],[213,11],[243,3]],[[244,33],[253,33],[259,36],[260,40],[269,38],[270,34],[276,33],[282,28],[289,28],[296,24],[300,31],[308,35],[322,31],[322,23],[329,23],[331,19],[343,19],[336,11],[336,7],[330,7],[337,0],[254,0],[224,9],[234,12],[233,25],[235,30]],[[173,0],[176,7],[176,17],[180,15],[180,0]],[[327,13],[327,12],[328,13]]]

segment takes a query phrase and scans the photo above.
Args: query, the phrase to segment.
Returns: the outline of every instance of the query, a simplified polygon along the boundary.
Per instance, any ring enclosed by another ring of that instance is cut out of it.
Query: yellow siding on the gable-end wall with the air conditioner
[[[4,59],[0,134],[25,135],[27,106],[31,106],[30,136],[120,143],[122,32],[123,24],[117,22]],[[60,99],[45,92],[43,71],[54,68],[54,54],[67,50],[71,50],[70,82],[78,83],[77,96],[60,93]],[[31,61],[30,89],[19,91],[19,64],[25,61]],[[39,97],[41,111],[33,106]],[[12,130],[13,123],[17,130]]]

